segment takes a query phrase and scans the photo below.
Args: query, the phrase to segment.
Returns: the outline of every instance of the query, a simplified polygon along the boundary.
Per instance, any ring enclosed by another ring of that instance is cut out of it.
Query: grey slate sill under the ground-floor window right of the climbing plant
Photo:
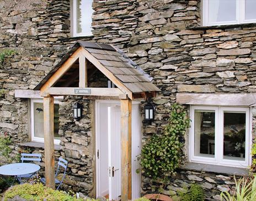
[[[215,173],[225,173],[226,175],[237,175],[244,176],[248,175],[249,170],[239,167],[227,167],[220,165],[210,165],[210,164],[198,164],[195,162],[189,162],[188,164],[181,167],[183,170],[197,170],[204,172],[215,172]]]

